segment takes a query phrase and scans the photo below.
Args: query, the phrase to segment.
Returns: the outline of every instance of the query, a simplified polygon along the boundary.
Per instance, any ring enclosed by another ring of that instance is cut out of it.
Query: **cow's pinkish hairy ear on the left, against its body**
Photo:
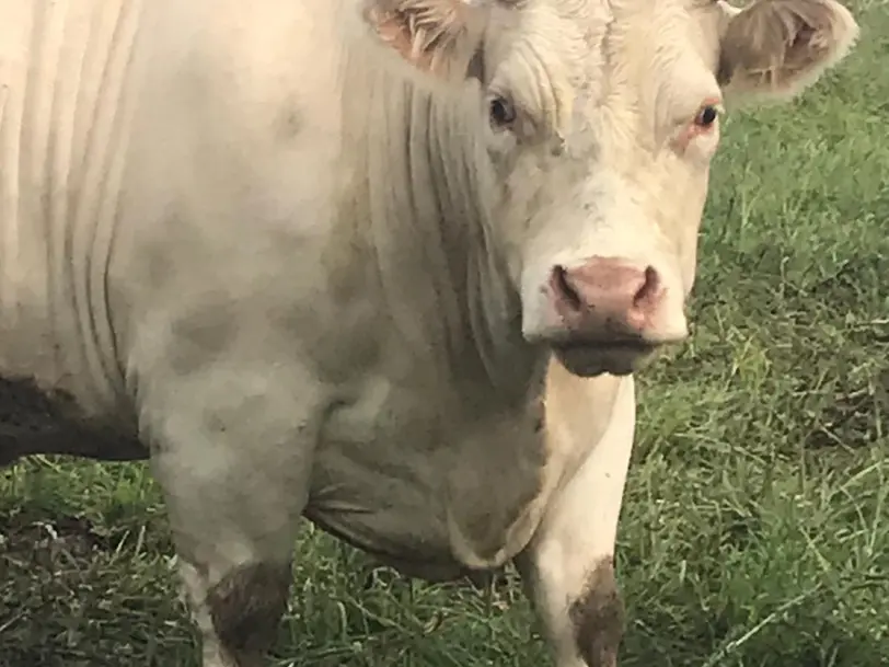
[[[477,76],[481,7],[465,0],[369,0],[365,18],[415,67],[446,77]]]

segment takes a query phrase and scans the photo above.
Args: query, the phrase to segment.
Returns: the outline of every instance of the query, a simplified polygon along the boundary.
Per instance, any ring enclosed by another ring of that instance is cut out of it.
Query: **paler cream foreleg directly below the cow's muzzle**
[[[582,392],[578,380],[575,390]],[[603,378],[602,381],[613,381]],[[585,437],[596,392],[586,410],[562,413],[550,437]],[[557,400],[556,396],[552,399]],[[547,403],[551,396],[547,396]],[[577,402],[577,396],[574,398]],[[604,410],[608,405],[602,406]],[[516,559],[555,649],[557,667],[615,667],[624,610],[614,577],[614,543],[635,427],[632,377],[621,381],[611,417],[573,478],[556,493],[528,548]],[[588,436],[587,436],[588,437]]]

